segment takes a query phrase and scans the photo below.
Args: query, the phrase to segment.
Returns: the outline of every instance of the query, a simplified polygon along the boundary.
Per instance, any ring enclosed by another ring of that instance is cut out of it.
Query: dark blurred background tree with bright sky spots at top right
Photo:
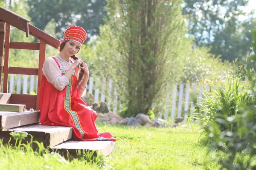
[[[198,46],[206,46],[222,60],[232,61],[247,55],[252,39],[247,21],[239,21],[245,15],[242,7],[248,0],[185,0],[183,14],[188,16],[189,34]]]

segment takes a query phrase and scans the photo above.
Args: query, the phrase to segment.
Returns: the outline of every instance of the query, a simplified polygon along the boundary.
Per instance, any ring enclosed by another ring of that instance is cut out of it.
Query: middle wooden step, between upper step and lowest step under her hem
[[[72,138],[72,127],[64,126],[45,126],[45,125],[29,125],[23,127],[16,127],[8,129],[6,131],[0,131],[0,139],[3,139],[3,143],[7,143],[11,137],[10,132],[12,131],[24,131],[29,134],[25,138],[25,141],[30,141],[33,136],[34,141],[43,142],[44,147],[53,147],[57,144],[63,143]],[[11,143],[15,143],[12,137]]]

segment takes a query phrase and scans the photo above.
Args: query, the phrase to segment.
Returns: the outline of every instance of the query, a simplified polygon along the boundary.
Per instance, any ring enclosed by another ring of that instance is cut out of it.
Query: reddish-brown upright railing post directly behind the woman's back
[[[40,48],[39,48],[39,64],[38,64],[38,94],[36,98],[36,110],[39,111],[39,96],[41,88],[41,80],[43,76],[43,65],[45,61],[45,50],[46,50],[46,41],[40,39]]]

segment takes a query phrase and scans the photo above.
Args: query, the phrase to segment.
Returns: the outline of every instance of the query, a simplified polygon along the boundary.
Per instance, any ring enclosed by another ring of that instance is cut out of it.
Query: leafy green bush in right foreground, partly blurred
[[[256,30],[253,33],[255,52]],[[249,59],[256,61],[255,56]],[[229,76],[225,87],[215,84],[214,92],[205,93],[199,105],[202,113],[195,115],[218,151],[222,168],[256,169],[256,73],[242,66],[238,71],[239,77]]]

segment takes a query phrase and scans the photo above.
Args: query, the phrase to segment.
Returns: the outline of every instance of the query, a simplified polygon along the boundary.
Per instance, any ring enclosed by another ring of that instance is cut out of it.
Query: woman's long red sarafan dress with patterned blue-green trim
[[[52,62],[52,59],[54,59],[55,63]],[[61,61],[61,57],[58,55],[49,57],[44,66],[47,69],[59,69],[60,75],[58,78],[64,78],[63,75],[67,72],[67,67],[73,64],[73,59],[70,58],[70,62],[66,61],[65,65],[59,64],[59,61]],[[47,69],[44,70],[43,67],[44,74],[50,74]],[[62,81],[65,87],[61,91],[57,90],[48,81],[49,75],[43,75],[39,99],[40,123],[42,125],[73,127],[73,138],[75,140],[116,141],[110,133],[98,134],[94,122],[97,118],[97,113],[80,99],[81,94],[77,85],[78,78],[76,74],[78,74],[78,69],[67,80],[67,85]]]

